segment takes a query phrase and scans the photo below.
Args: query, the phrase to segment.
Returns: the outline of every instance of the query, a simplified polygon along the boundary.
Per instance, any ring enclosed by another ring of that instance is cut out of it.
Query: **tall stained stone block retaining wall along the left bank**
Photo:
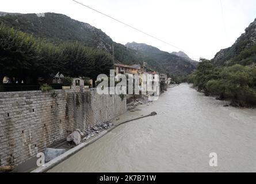
[[[17,165],[48,145],[126,111],[126,99],[96,89],[0,93],[0,166]]]

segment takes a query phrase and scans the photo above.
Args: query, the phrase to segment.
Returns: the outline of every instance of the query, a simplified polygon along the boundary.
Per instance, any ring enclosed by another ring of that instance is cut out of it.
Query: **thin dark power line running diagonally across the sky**
[[[173,44],[170,44],[170,43],[167,43],[167,42],[164,41],[164,40],[158,39],[157,37],[152,36],[151,34],[148,34],[148,33],[144,32],[144,31],[142,31],[142,30],[140,30],[140,29],[137,29],[137,28],[135,28],[135,27],[133,27],[133,26],[131,26],[131,25],[129,25],[129,24],[126,24],[125,22],[122,22],[122,21],[120,21],[120,20],[117,20],[116,18],[113,18],[113,17],[111,17],[111,16],[108,16],[107,14],[102,13],[101,11],[98,11],[98,10],[96,10],[96,9],[93,9],[92,7],[87,6],[87,5],[85,5],[85,4],[81,3],[81,2],[78,2],[78,1],[75,1],[75,0],[72,0],[72,1],[78,3],[79,5],[85,6],[85,7],[89,8],[89,9],[91,9],[91,10],[93,10],[93,11],[96,11],[97,13],[100,13],[100,14],[106,16],[106,17],[109,17],[109,18],[111,18],[111,19],[114,20],[114,21],[117,21],[117,22],[119,22],[119,23],[121,23],[121,24],[124,24],[124,25],[128,26],[129,28],[135,29],[135,30],[137,30],[137,31],[140,32],[140,33],[146,34],[147,36],[150,36],[150,37],[152,37],[152,38],[155,39],[155,40],[161,41],[162,43],[165,43],[165,44],[167,44],[167,45],[170,45],[171,47],[177,48],[177,49],[179,49],[179,51],[183,51],[183,52],[190,53],[190,54],[194,55],[194,54],[191,53],[191,52],[185,51],[184,49],[181,49],[181,48],[179,48],[179,47],[176,47],[176,46],[173,45]],[[198,58],[197,58],[197,59],[198,59]]]

